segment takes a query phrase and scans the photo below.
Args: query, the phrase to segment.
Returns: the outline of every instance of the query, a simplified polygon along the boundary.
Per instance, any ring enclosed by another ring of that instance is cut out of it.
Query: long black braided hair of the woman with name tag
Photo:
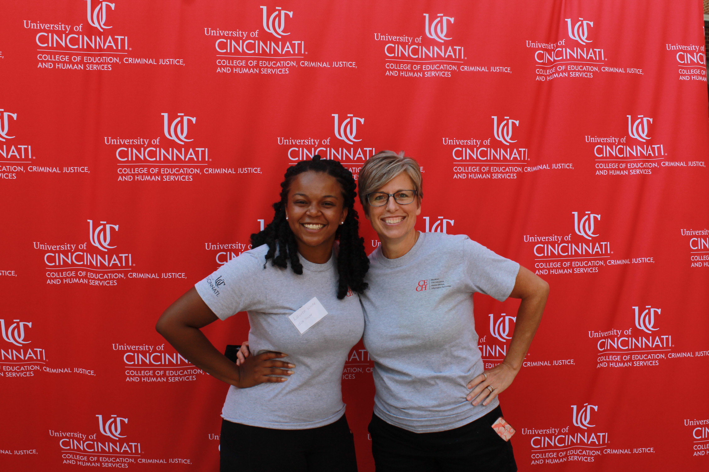
[[[364,252],[364,238],[359,237],[359,221],[357,210],[354,209],[357,184],[354,182],[352,173],[337,161],[320,159],[320,156],[316,154],[312,161],[300,161],[286,171],[284,180],[281,182],[281,200],[273,204],[276,211],[273,221],[263,231],[251,235],[252,248],[267,244],[266,262],[271,259],[272,265],[285,269],[290,260],[293,272],[298,275],[303,274],[303,265],[298,259],[296,236],[286,221],[286,205],[288,204],[291,182],[296,175],[308,171],[326,173],[333,176],[337,183],[340,183],[342,197],[345,200],[343,207],[347,208],[347,217],[335,232],[335,239],[340,241],[340,251],[337,253],[337,273],[340,275],[340,280],[337,281],[337,298],[345,298],[348,289],[361,294],[367,289],[364,275],[369,269],[369,259],[367,253]],[[264,267],[266,267],[266,263],[264,263]]]

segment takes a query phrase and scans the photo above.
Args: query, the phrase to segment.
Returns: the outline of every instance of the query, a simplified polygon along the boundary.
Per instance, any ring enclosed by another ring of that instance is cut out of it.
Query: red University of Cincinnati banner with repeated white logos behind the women
[[[320,154],[357,175],[383,149],[422,166],[418,229],[551,286],[501,395],[521,470],[709,467],[699,0],[1,9],[4,470],[216,470],[227,386],[155,321],[250,248],[286,168]],[[518,301],[474,298],[489,368]],[[248,329],[204,331],[223,349]],[[342,390],[373,471],[361,343]]]

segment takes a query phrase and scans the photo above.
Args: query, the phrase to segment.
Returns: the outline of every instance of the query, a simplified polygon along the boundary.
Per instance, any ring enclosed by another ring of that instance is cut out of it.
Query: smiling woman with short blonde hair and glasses
[[[359,198],[381,245],[360,296],[374,360],[369,424],[377,472],[516,471],[498,393],[522,367],[549,286],[465,235],[421,233],[418,163],[382,151],[359,173]],[[484,371],[472,294],[522,299],[508,354]]]

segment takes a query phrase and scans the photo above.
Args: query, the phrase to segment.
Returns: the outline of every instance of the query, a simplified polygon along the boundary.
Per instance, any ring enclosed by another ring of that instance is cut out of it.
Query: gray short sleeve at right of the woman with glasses
[[[520,265],[469,238],[462,241],[465,272],[473,292],[504,301],[515,288]]]

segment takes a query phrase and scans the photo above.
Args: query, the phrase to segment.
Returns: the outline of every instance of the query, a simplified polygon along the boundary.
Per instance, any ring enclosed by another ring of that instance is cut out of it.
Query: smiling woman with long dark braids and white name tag
[[[281,188],[273,221],[251,236],[253,249],[177,299],[156,328],[230,384],[221,471],[356,471],[341,391],[345,359],[364,330],[357,294],[367,289],[369,267],[356,184],[340,163],[315,156],[289,168]],[[301,308],[302,318],[327,314],[296,328],[289,316]],[[248,313],[253,355],[237,365],[200,328],[239,311]]]

